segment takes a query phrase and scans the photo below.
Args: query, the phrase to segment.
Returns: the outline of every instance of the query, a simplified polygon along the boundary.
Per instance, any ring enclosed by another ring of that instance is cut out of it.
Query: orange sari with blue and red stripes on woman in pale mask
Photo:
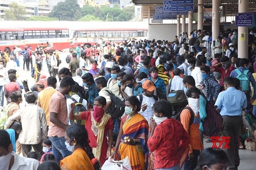
[[[121,159],[129,157],[132,170],[147,170],[148,169],[148,121],[139,113],[130,117],[126,115],[123,117],[125,122],[121,123],[120,128],[123,129],[124,134],[121,137],[121,141],[124,141],[124,137],[129,136],[131,139],[140,139],[140,143],[124,144],[120,143],[119,154]]]

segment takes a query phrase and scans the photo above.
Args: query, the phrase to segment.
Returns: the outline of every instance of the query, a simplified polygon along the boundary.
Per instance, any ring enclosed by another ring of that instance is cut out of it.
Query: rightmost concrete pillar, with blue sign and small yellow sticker
[[[248,12],[248,0],[239,0],[238,12]],[[244,34],[244,38],[242,37]],[[238,27],[238,57],[248,59],[248,27]]]

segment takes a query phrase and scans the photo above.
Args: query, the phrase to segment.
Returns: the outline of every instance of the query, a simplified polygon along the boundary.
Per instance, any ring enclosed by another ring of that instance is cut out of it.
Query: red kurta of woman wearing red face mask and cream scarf
[[[82,119],[85,120],[85,129],[88,133],[88,137],[90,140],[90,147],[92,148],[96,148],[97,147],[97,136],[94,135],[92,129],[94,129],[94,131],[97,131],[98,129],[94,126],[92,127],[92,121],[93,118],[91,117],[92,115],[92,111],[85,111],[81,113],[81,117]],[[103,165],[104,162],[106,161],[106,156],[107,156],[107,150],[108,150],[108,139],[106,138],[106,135],[108,133],[108,130],[113,130],[114,129],[114,123],[113,123],[113,119],[110,118],[108,120],[108,122],[105,125],[105,130],[104,130],[104,138],[103,138],[103,142],[102,142],[102,150],[101,150],[101,155],[100,155],[100,164]]]

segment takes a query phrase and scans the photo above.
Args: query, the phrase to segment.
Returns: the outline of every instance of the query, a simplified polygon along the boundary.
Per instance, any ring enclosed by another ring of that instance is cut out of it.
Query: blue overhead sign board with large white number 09
[[[164,12],[194,11],[194,0],[164,0]]]

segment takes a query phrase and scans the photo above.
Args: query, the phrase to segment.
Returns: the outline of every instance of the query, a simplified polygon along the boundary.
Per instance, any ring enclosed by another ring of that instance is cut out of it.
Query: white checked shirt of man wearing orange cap
[[[140,100],[140,97],[137,96],[138,100]],[[140,114],[148,121],[148,123],[150,122],[150,117],[153,116],[153,109],[152,109],[152,105],[155,103],[156,101],[154,100],[153,97],[149,98],[147,96],[145,96],[144,94],[142,94],[142,102],[141,102],[141,106],[143,106],[144,104],[147,104],[147,108],[145,111],[142,111],[142,109],[140,109]]]

